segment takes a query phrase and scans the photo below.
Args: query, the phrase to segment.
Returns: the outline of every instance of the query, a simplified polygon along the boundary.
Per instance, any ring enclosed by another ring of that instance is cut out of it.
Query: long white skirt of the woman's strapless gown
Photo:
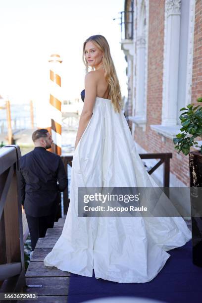
[[[119,283],[151,281],[166,251],[183,246],[191,232],[182,217],[78,217],[78,187],[156,187],[136,152],[123,113],[96,98],[92,118],[75,150],[70,205],[62,234],[46,266]]]

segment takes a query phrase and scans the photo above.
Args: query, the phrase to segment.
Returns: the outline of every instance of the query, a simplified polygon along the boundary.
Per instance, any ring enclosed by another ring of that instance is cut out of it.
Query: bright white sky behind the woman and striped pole
[[[124,0],[0,0],[0,95],[13,103],[49,98],[51,54],[61,56],[63,100],[80,98],[84,89],[83,42],[107,39],[127,94],[120,17]]]

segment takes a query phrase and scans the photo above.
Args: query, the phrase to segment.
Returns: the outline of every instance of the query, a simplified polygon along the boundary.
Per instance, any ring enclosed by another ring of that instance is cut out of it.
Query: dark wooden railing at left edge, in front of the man
[[[25,285],[20,148],[0,149],[0,292],[21,292]]]

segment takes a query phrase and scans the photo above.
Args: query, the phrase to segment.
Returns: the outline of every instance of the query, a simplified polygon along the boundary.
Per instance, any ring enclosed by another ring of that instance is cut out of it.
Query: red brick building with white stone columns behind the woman
[[[172,152],[170,186],[189,186],[189,158],[175,151],[172,138],[180,131],[180,108],[202,97],[202,0],[125,0],[123,14],[127,110],[137,150]],[[154,172],[159,185],[161,166]]]

